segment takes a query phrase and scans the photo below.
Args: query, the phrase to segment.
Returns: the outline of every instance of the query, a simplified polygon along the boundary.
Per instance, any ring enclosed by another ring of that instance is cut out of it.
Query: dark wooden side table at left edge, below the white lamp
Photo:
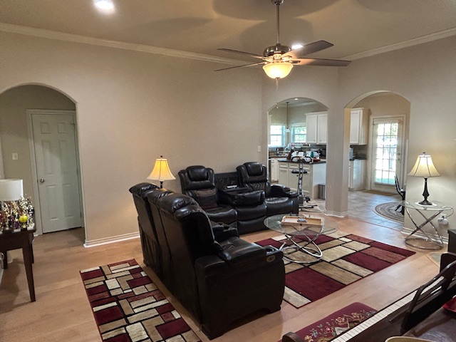
[[[6,259],[6,252],[13,249],[22,249],[24,255],[24,265],[26,266],[26,275],[28,282],[28,292],[30,293],[30,300],[36,301],[35,299],[35,285],[33,283],[33,233],[36,232],[35,227],[19,230],[16,229],[13,232],[0,233],[0,252],[5,256],[4,269],[8,268],[8,260]]]

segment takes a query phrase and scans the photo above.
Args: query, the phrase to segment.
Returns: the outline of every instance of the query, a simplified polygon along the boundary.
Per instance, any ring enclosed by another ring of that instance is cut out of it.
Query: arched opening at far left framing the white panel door
[[[17,86],[0,94],[1,160],[4,171],[2,176],[23,180],[24,196],[31,197],[35,208],[38,234],[83,226],[75,116],[76,104],[73,100],[47,86]],[[66,120],[61,120],[63,117]],[[46,118],[58,118],[58,120],[53,120],[56,130],[51,130],[50,122],[43,121]],[[35,129],[33,129],[33,124]],[[48,129],[49,132],[47,132]],[[46,138],[46,142],[36,145],[38,131],[43,134],[49,133],[48,135],[71,133],[70,131],[72,131],[73,135],[69,136],[73,137],[73,141],[70,139],[68,143],[68,141],[63,142],[62,139],[58,139],[54,144],[58,145],[58,148],[51,148],[51,140]],[[73,147],[69,146],[71,144]],[[68,152],[71,150],[74,152]],[[65,167],[63,167],[62,155],[65,155],[65,165],[74,166],[63,170]],[[41,162],[39,158],[41,158]],[[46,170],[39,170],[40,164],[44,165]],[[57,183],[54,182],[51,185],[50,172],[59,175],[65,173],[65,177],[60,177]],[[72,185],[68,182],[69,173],[77,175]],[[70,195],[67,189],[71,186],[76,191],[72,190]],[[49,194],[42,190],[45,187],[53,189],[53,193]],[[43,195],[46,193],[47,196]],[[68,201],[69,197],[76,197],[76,201]],[[76,202],[76,209],[71,207],[69,202],[72,202],[71,205]],[[78,210],[79,217],[75,221],[76,223],[68,225],[63,222],[67,220],[68,212]],[[55,227],[48,229],[52,225]]]

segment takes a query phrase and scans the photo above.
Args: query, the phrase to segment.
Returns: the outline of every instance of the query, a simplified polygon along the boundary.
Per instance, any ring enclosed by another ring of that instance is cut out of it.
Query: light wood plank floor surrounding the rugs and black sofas
[[[336,221],[343,232],[408,248],[403,242],[403,234],[396,229],[350,218]],[[276,234],[264,231],[244,235],[243,238],[255,242]],[[81,229],[71,229],[36,237],[33,242],[33,275],[36,287],[34,303],[30,302],[28,296],[21,251],[11,252],[14,260],[9,264],[9,269],[4,271],[0,285],[0,341],[101,341],[79,271],[133,258],[156,282],[199,338],[202,341],[209,341],[199,331],[187,311],[170,296],[155,274],[142,264],[140,239],[84,248],[82,235]],[[252,317],[248,323],[237,326],[212,341],[276,342],[284,333],[297,331],[355,301],[382,309],[438,273],[437,264],[428,255],[431,252],[416,252],[398,264],[301,309],[295,309],[283,301],[281,311],[264,316],[257,315],[254,317],[257,319],[254,320]]]

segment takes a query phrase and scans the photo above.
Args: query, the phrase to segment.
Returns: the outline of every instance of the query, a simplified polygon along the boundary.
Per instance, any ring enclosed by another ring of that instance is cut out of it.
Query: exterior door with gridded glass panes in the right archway
[[[372,141],[371,189],[395,192],[394,176],[403,170],[402,118],[374,118]]]

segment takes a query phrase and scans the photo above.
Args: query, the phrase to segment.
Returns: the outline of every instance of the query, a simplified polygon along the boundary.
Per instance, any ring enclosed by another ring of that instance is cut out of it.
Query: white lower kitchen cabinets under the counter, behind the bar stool
[[[326,184],[326,163],[304,164],[303,167],[307,172],[302,177],[303,195],[316,198],[318,196],[318,185]],[[299,175],[293,173],[293,170],[299,170],[297,162],[279,162],[279,184],[296,191]]]

